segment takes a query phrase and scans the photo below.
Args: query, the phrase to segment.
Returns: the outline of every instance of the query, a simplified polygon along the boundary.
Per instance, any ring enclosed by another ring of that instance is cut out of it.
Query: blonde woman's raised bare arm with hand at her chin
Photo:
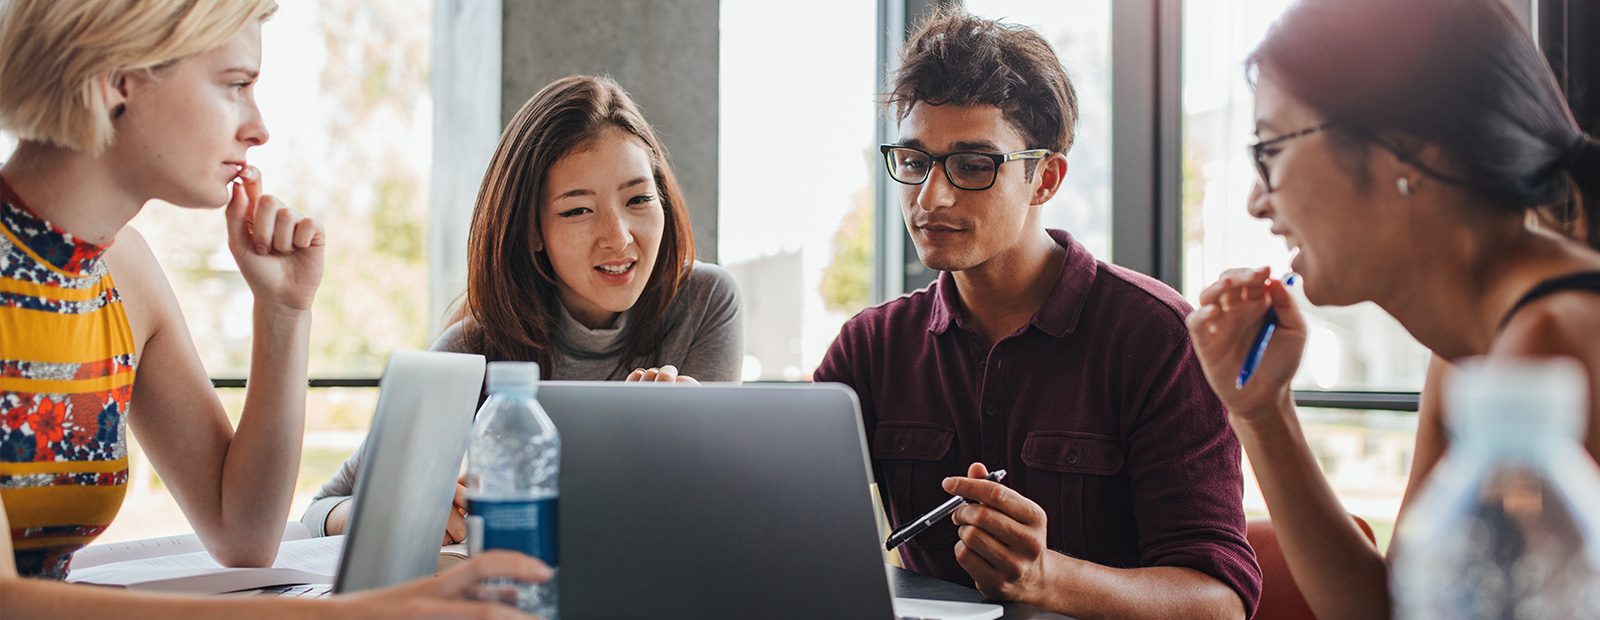
[[[218,562],[270,566],[299,473],[323,232],[261,195],[258,169],[246,176],[224,216],[229,248],[254,297],[250,382],[237,428],[149,244],[125,227],[106,260],[139,348],[128,427]]]

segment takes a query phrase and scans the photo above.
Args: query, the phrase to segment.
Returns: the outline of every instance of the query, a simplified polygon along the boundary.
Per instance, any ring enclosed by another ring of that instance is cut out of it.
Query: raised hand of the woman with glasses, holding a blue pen
[[[1270,275],[1267,267],[1222,272],[1200,292],[1200,308],[1187,320],[1206,382],[1235,420],[1286,411],[1286,404],[1293,403],[1290,380],[1306,352],[1306,318],[1283,281]],[[1240,385],[1240,368],[1262,332],[1269,308],[1277,313],[1277,328],[1248,384]]]

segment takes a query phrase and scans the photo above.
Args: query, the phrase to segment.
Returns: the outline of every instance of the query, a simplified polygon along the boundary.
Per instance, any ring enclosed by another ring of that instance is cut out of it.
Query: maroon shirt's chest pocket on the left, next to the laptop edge
[[[898,527],[936,508],[950,494],[941,483],[946,476],[965,473],[950,444],[955,428],[917,422],[880,422],[872,433],[872,460],[880,467],[883,497],[888,499],[890,527]],[[955,526],[949,521],[928,527],[912,539],[912,546],[950,546]]]

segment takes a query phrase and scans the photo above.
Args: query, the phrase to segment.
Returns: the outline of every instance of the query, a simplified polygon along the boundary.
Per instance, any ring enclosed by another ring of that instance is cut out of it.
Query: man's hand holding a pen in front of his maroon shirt
[[[955,561],[990,599],[1040,598],[1051,556],[1045,546],[1045,510],[1005,484],[982,479],[989,475],[982,463],[970,465],[966,475],[944,479],[944,491],[979,502],[950,516],[960,537]]]

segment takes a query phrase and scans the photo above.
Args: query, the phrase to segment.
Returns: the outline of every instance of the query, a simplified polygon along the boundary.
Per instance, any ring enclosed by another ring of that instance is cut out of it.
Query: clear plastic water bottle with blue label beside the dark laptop
[[[557,475],[562,438],[534,398],[539,364],[488,364],[490,398],[478,409],[467,446],[467,546],[515,550],[558,570]],[[515,602],[557,620],[557,578],[547,583],[485,582],[482,598]]]

